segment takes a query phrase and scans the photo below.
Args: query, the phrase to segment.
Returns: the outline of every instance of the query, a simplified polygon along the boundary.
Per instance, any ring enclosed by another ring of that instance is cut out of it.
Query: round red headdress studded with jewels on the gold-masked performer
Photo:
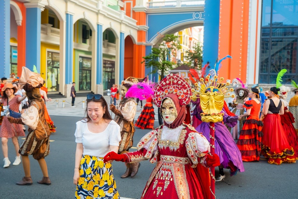
[[[169,74],[159,84],[154,91],[153,101],[157,107],[160,107],[163,98],[167,94],[176,94],[179,104],[185,106],[190,102],[192,96],[190,85],[179,75]]]

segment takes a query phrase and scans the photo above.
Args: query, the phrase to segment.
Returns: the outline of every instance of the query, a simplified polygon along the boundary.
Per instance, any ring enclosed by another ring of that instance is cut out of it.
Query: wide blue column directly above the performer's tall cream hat
[[[40,73],[41,8],[26,8],[26,67],[33,71],[33,65]]]

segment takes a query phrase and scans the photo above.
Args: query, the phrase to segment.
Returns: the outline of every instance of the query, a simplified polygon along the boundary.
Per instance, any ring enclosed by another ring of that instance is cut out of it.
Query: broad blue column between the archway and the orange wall
[[[203,66],[209,61],[214,66],[218,58],[220,0],[205,1]]]

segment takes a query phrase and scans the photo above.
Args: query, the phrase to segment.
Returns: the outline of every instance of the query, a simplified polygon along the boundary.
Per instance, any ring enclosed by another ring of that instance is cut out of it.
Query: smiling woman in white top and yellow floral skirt
[[[87,95],[86,119],[76,123],[75,198],[120,198],[110,162],[103,157],[118,152],[120,126],[111,118],[100,94]]]

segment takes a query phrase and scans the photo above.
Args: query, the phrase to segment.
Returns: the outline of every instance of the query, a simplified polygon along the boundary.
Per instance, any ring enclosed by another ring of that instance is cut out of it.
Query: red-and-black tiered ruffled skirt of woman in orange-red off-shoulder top
[[[263,123],[257,116],[251,115],[244,121],[237,142],[242,160],[246,162],[259,161],[261,154]]]

